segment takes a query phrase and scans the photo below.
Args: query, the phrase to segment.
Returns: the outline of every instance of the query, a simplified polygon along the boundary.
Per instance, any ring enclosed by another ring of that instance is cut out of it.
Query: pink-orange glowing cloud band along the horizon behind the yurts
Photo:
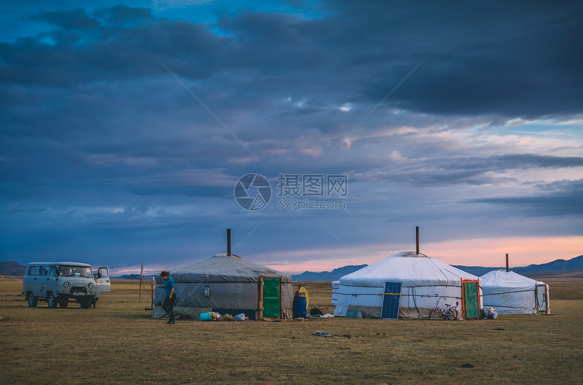
[[[411,247],[413,246],[413,247]],[[322,251],[306,249],[278,254],[281,262],[265,263],[265,255],[241,255],[241,257],[264,264],[287,274],[301,274],[304,271],[332,271],[346,265],[373,264],[399,251],[415,250],[415,244],[375,244],[351,247],[342,246]],[[351,255],[351,252],[353,255]],[[510,267],[543,264],[557,259],[570,260],[583,254],[583,236],[573,237],[529,237],[529,238],[484,238],[451,240],[421,244],[420,252],[451,265],[504,267],[505,254],[509,254]],[[292,262],[293,260],[301,262]],[[162,265],[145,265],[144,275],[159,274],[162,269],[172,269]],[[138,267],[112,269],[111,275],[139,275]]]

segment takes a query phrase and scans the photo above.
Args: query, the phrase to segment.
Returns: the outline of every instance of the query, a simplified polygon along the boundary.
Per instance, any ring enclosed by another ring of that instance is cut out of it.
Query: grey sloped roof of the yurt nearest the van
[[[262,276],[291,282],[291,275],[237,255],[217,254],[170,270],[174,282],[257,282]]]

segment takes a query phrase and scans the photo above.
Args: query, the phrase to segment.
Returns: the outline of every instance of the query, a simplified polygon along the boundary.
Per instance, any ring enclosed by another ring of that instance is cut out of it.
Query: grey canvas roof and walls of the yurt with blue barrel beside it
[[[177,296],[174,304],[175,313],[188,314],[198,319],[201,313],[226,311],[232,315],[245,313],[250,319],[258,319],[260,303],[264,300],[273,300],[273,296],[271,298],[261,296],[264,293],[262,282],[265,281],[265,287],[280,290],[282,317],[292,317],[291,276],[236,255],[213,255],[195,264],[172,269],[170,276],[174,279],[174,291]],[[161,284],[164,281],[157,275],[156,282]],[[205,296],[205,289],[208,296]],[[265,295],[268,296],[267,293]],[[164,296],[164,289],[156,288],[154,317],[164,315],[161,308]],[[275,300],[277,301],[277,297]],[[264,316],[276,317],[273,314]]]

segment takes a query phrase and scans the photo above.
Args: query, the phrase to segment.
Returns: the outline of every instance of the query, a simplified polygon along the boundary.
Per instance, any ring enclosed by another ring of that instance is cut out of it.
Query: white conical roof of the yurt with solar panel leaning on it
[[[461,278],[479,279],[473,274],[462,271],[444,262],[416,254],[415,251],[402,251],[384,260],[363,267],[340,278],[342,285],[384,286],[385,281],[403,282],[403,286],[426,286],[457,283]]]

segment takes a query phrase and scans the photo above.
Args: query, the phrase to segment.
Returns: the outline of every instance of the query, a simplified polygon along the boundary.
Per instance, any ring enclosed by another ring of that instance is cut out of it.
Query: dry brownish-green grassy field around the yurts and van
[[[496,320],[200,322],[150,317],[116,281],[96,309],[29,308],[0,279],[2,384],[580,384],[583,280],[547,279],[554,316]],[[294,283],[297,289],[298,283]],[[329,282],[302,282],[329,306]],[[315,331],[331,331],[318,337]]]

